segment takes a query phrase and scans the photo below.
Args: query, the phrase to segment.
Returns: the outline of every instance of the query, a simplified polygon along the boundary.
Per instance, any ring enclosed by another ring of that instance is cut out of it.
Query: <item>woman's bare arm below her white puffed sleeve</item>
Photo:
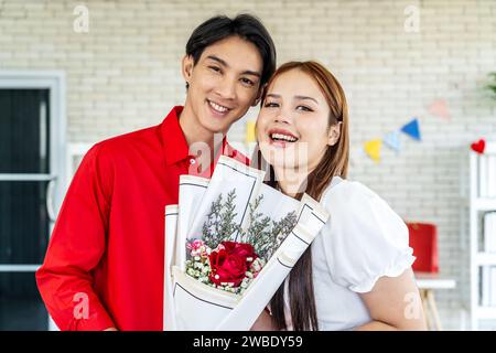
[[[360,295],[373,321],[359,331],[425,330],[425,317],[413,271],[399,277],[381,277],[373,290]]]

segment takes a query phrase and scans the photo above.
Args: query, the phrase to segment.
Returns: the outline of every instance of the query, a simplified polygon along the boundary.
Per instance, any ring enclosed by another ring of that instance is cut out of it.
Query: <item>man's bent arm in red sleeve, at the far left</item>
[[[115,323],[93,289],[91,270],[106,248],[114,170],[95,146],[85,156],[53,231],[36,282],[61,330],[105,330]]]

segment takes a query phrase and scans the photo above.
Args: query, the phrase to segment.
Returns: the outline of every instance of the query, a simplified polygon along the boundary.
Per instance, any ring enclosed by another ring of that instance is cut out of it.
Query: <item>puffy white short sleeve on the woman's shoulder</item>
[[[324,253],[334,282],[370,291],[384,276],[398,277],[414,261],[408,227],[370,189],[343,181],[323,197],[331,214],[323,229]]]

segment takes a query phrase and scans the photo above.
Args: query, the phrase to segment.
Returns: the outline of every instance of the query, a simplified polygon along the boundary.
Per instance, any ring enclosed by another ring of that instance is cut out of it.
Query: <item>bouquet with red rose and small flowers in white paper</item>
[[[249,330],[328,218],[220,157],[165,207],[164,330]]]

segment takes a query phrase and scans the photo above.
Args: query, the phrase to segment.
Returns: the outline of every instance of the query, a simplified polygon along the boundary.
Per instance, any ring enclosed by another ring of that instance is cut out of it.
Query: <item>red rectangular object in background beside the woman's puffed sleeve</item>
[[[417,257],[412,269],[419,272],[439,272],[438,228],[430,223],[407,222],[410,247]]]

